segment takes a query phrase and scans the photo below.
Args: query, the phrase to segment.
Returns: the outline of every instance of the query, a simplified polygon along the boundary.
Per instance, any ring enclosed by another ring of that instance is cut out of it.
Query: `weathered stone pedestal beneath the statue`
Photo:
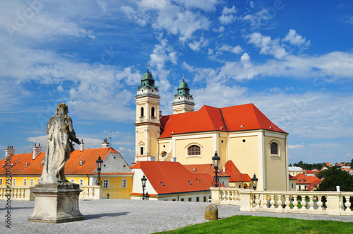
[[[66,223],[83,220],[78,207],[79,185],[36,185],[35,210],[28,221],[42,223]]]

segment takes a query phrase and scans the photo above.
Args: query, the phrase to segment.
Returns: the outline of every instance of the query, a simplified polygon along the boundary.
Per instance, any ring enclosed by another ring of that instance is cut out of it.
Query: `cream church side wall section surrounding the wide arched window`
[[[198,156],[186,158],[186,146],[191,146],[192,143],[197,143],[202,146],[201,158]],[[181,164],[188,165],[212,163],[212,157],[214,154],[213,137],[175,140],[175,157],[177,157],[177,161]]]

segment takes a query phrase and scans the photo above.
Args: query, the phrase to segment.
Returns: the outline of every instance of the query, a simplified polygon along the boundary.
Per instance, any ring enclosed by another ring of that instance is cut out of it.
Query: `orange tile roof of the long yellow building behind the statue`
[[[92,174],[97,168],[95,160],[97,160],[98,156],[101,156],[102,160],[104,160],[110,152],[119,153],[114,148],[88,148],[83,151],[73,151],[70,159],[66,162],[65,175]],[[43,168],[40,163],[42,163],[44,154],[44,152],[40,153],[34,160],[32,159],[32,153],[14,154],[11,156],[11,163],[16,163],[16,165],[11,168],[11,175],[42,175]],[[80,160],[84,162],[81,166]],[[6,168],[2,167],[4,163],[5,158],[0,160],[0,175],[6,173]],[[25,163],[30,163],[27,168]]]

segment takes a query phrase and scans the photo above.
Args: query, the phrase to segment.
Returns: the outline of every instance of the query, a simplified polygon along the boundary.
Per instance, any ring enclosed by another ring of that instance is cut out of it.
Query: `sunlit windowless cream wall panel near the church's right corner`
[[[258,136],[229,136],[229,157],[241,173],[258,175]]]

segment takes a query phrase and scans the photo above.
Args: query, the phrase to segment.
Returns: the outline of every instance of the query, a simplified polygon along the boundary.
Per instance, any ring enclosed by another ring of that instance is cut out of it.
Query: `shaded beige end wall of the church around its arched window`
[[[270,142],[276,140],[280,143],[280,157],[270,156]],[[285,139],[273,136],[264,136],[265,142],[265,189],[287,189],[287,162],[285,155]]]

